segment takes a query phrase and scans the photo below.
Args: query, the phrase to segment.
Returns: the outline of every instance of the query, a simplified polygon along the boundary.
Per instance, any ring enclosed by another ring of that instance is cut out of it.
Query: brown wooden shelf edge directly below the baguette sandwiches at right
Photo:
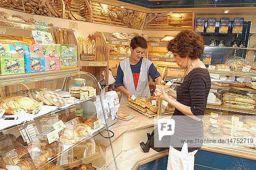
[[[207,104],[206,106],[208,109],[219,109],[219,110],[225,110],[225,111],[231,111],[231,112],[239,112],[239,113],[248,113],[252,115],[256,115],[256,109],[239,109],[236,107],[228,107],[223,105],[213,105],[213,104]]]

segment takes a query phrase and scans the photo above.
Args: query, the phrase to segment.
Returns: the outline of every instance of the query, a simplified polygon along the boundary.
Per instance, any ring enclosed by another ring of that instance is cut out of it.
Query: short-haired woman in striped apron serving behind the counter
[[[147,48],[145,38],[137,36],[131,40],[131,57],[119,63],[116,86],[122,92],[120,103],[127,102],[132,95],[150,98],[149,76],[156,84],[162,80],[154,64],[142,55]]]

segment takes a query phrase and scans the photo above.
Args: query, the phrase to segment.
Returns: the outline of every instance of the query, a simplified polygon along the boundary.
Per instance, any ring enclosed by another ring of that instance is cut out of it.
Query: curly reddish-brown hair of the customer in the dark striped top
[[[188,56],[192,60],[200,59],[204,52],[204,40],[198,33],[183,30],[170,40],[167,49],[176,52],[182,58]]]

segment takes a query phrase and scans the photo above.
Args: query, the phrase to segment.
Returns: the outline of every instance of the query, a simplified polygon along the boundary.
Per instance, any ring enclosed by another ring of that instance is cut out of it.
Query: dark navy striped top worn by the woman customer
[[[211,79],[208,70],[192,69],[183,83],[177,87],[177,101],[189,106],[191,112],[198,118],[203,118],[210,88]],[[200,149],[201,140],[204,138],[202,121],[196,121],[176,108],[172,119],[175,120],[175,133],[171,136],[171,146],[181,151],[183,140],[187,139],[189,152]]]

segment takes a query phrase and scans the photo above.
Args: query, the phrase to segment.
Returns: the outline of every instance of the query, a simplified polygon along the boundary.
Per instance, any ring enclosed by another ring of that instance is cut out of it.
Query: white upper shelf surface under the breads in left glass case
[[[96,98],[96,97],[93,97],[93,98]],[[84,103],[86,101],[90,101],[93,98],[88,98],[84,101],[79,101],[77,99],[75,104],[66,104],[63,107],[43,105],[42,109],[35,115],[33,115],[31,113],[21,112],[19,115],[19,118],[17,120],[4,120],[3,118],[1,118],[0,119],[0,130],[5,130],[10,127],[15,127],[19,124],[23,124],[24,122],[32,121],[32,120],[41,118],[41,117],[51,114],[51,113],[59,112],[61,110],[67,109],[69,107],[76,106],[76,105]]]

